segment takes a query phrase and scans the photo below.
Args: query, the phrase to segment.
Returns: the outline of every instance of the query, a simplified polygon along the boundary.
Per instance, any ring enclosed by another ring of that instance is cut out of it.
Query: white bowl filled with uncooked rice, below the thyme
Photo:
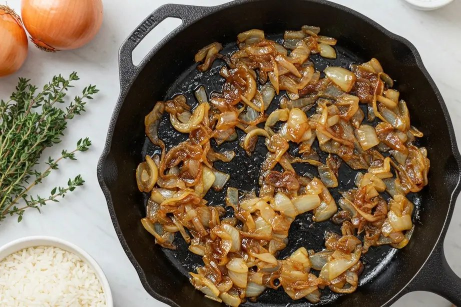
[[[103,270],[82,248],[52,236],[0,247],[0,306],[113,307]]]

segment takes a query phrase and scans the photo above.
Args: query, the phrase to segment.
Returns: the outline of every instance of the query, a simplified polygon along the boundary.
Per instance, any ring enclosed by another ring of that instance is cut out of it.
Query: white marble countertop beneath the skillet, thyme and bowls
[[[91,149],[78,155],[79,161],[64,161],[61,169],[52,173],[37,193],[48,193],[67,178],[81,173],[86,180],[82,188],[66,196],[59,204],[43,208],[42,214],[31,210],[21,223],[8,218],[0,226],[0,245],[28,235],[55,235],[86,249],[101,264],[112,287],[117,307],[166,306],[156,301],[143,288],[138,275],[128,260],[116,236],[99,187],[96,165],[106,140],[106,131],[113,107],[119,95],[118,49],[129,33],[158,6],[176,2],[195,5],[216,5],[227,0],[104,0],[104,23],[97,37],[86,46],[58,53],[46,53],[29,44],[27,62],[14,75],[0,80],[0,97],[6,98],[14,90],[19,76],[31,78],[40,86],[58,73],[68,75],[77,70],[81,81],[78,88],[94,83],[101,89],[89,103],[87,112],[72,120],[63,142],[47,149],[43,156],[55,156],[63,149],[71,149],[85,136],[93,141]],[[402,0],[365,1],[334,0],[349,6],[410,40],[419,50],[422,60],[440,89],[451,114],[458,140],[461,139],[461,1],[435,11],[417,11]],[[4,2],[4,1],[0,1]],[[371,3],[373,2],[373,3]],[[20,0],[8,0],[20,10]],[[155,34],[140,45],[136,56],[140,60],[150,47],[171,29],[175,21],[162,23]],[[453,270],[461,275],[461,204],[459,199],[445,238],[446,257]],[[427,292],[413,292],[399,299],[393,306],[449,306],[445,299]]]

